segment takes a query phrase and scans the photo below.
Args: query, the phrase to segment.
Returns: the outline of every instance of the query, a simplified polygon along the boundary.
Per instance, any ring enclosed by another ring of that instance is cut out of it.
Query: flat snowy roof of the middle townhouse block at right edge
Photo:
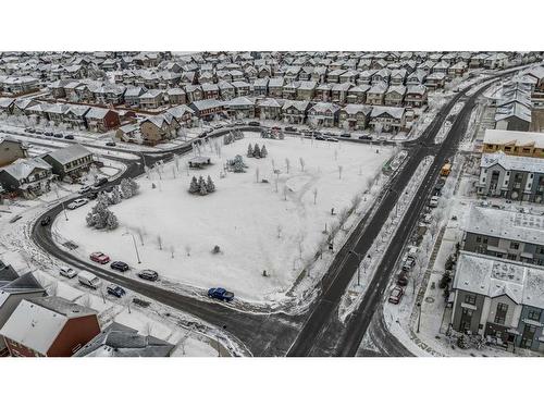
[[[544,215],[473,205],[465,215],[463,230],[473,234],[541,245],[544,243]]]

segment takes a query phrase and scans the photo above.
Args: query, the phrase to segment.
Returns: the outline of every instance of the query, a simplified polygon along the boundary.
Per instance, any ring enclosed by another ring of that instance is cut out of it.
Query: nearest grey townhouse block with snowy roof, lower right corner
[[[544,353],[543,268],[460,251],[453,294],[454,330]]]

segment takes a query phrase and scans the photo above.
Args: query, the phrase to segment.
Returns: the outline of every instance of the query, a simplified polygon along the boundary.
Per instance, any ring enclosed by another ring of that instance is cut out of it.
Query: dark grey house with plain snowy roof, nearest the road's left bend
[[[95,162],[92,152],[78,144],[50,151],[44,154],[42,159],[51,165],[52,173],[60,180],[77,180],[88,172]]]

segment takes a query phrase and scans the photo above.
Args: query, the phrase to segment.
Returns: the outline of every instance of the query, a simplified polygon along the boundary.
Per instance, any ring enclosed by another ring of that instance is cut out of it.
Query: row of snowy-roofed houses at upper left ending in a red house
[[[119,113],[112,109],[74,103],[49,103],[30,98],[0,98],[0,113],[25,115],[39,124],[53,122],[72,128],[86,128],[104,133],[121,123]]]

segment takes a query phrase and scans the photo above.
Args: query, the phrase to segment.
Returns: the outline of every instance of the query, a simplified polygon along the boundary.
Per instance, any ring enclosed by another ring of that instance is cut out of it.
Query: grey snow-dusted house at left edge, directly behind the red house
[[[2,263],[0,263],[1,265]],[[5,272],[0,269],[0,327],[4,325],[21,300],[47,296],[46,289],[41,287],[32,273],[18,276],[11,267],[9,268],[5,269]],[[13,274],[15,275],[14,279],[12,279]],[[3,279],[12,280],[2,285],[1,282],[5,282],[2,281]],[[3,337],[0,337],[0,357],[9,354]]]

